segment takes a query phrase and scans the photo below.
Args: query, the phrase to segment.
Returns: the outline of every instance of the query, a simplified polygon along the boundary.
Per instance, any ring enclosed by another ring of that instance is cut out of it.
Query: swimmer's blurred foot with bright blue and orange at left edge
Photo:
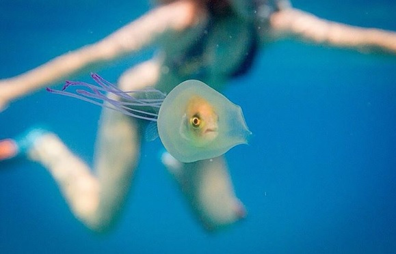
[[[14,139],[0,140],[0,161],[18,156],[27,156],[34,143],[49,133],[51,132],[44,128],[30,128]]]

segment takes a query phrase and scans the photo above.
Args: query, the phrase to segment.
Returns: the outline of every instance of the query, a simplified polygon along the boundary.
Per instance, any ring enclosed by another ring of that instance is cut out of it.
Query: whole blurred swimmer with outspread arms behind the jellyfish
[[[103,40],[0,81],[0,109],[31,91],[85,70],[95,71],[92,66],[155,43],[161,46],[159,53],[124,72],[118,81],[120,89],[151,86],[169,93],[187,79],[198,79],[220,90],[229,79],[249,70],[260,46],[283,38],[396,55],[395,33],[321,20],[291,8],[285,0],[157,2],[156,8]],[[60,186],[75,216],[91,229],[104,231],[114,225],[133,182],[144,126],[141,119],[103,109],[94,156],[95,173],[59,137],[40,129],[14,141],[0,141],[0,157],[25,153],[41,163]],[[164,154],[162,161],[204,228],[215,230],[245,216],[224,156],[181,163]]]

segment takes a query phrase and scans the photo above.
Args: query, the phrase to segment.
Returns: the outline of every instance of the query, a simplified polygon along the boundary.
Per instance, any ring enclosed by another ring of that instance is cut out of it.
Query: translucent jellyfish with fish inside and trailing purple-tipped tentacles
[[[122,91],[98,74],[91,76],[98,85],[66,81],[62,90],[47,87],[47,91],[150,121],[146,139],[159,136],[166,150],[183,163],[220,156],[235,145],[247,144],[252,135],[241,107],[201,81],[184,81],[166,95],[152,87]],[[71,86],[85,89],[66,91]]]

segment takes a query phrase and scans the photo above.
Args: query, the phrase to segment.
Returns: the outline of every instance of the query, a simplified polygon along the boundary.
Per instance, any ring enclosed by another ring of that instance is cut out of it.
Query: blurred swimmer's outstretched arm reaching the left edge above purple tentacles
[[[107,61],[135,53],[196,21],[196,5],[177,1],[151,10],[103,40],[60,55],[28,72],[0,81],[0,111],[8,102],[36,89],[64,81],[87,70],[92,72]]]

